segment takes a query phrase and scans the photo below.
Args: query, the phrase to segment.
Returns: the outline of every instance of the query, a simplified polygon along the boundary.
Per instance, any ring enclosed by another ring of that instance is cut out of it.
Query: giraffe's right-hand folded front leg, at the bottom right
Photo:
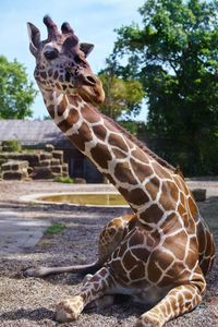
[[[170,319],[195,308],[202,301],[206,283],[202,280],[173,288],[152,310],[143,314],[135,327],[161,327]]]

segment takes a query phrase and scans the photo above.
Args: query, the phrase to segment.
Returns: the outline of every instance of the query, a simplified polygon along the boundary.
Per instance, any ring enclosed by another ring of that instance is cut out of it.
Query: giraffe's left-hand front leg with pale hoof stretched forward
[[[110,271],[102,267],[90,279],[87,279],[77,295],[66,299],[58,305],[56,320],[65,323],[77,319],[83,308],[93,301],[98,303],[99,298],[105,298],[106,303],[111,303],[112,296],[104,295],[112,290],[112,284],[113,280]]]

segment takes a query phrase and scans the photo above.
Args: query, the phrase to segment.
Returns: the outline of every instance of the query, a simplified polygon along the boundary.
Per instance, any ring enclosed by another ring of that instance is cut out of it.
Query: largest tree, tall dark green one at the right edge
[[[140,78],[148,129],[186,173],[218,173],[218,1],[147,0],[118,29],[117,74]],[[158,137],[159,137],[158,136]]]

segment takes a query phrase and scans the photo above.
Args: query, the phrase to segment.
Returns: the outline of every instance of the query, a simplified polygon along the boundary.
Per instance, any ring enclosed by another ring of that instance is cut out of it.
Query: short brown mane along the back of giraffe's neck
[[[165,160],[165,159],[160,158],[158,155],[156,155],[152,149],[149,149],[147,147],[147,145],[145,143],[141,142],[140,140],[137,140],[137,137],[133,136],[130,132],[128,132],[123,126],[121,126],[119,123],[117,123],[113,119],[111,119],[110,117],[108,117],[104,113],[101,113],[101,116],[104,117],[104,119],[106,121],[110,122],[120,132],[122,132],[128,137],[128,140],[132,141],[135,145],[137,145],[138,148],[141,148],[145,154],[149,155],[153,159],[155,159],[162,167],[168,168],[173,172],[177,172],[175,167],[173,167],[167,160]],[[179,172],[179,173],[181,173],[181,172]]]

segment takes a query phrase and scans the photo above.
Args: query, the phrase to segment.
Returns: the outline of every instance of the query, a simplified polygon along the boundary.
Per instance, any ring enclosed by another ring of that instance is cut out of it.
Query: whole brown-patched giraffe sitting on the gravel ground
[[[106,225],[96,263],[29,268],[25,275],[94,270],[77,294],[58,304],[58,322],[77,319],[85,306],[109,305],[116,294],[126,294],[152,306],[135,327],[164,326],[201,303],[215,257],[213,235],[177,169],[96,108],[104,90],[86,60],[94,46],[80,43],[69,23],[61,33],[49,16],[44,23],[44,41],[35,25],[27,26],[35,78],[48,112],[113,183],[133,214]]]

